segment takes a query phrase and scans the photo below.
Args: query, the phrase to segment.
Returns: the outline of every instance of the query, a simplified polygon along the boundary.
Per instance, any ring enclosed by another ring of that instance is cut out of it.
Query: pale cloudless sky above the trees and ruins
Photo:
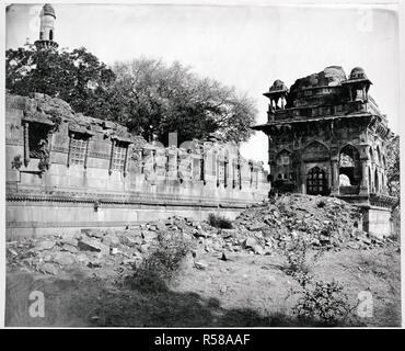
[[[228,2],[227,2],[228,3]],[[13,4],[5,14],[5,47],[38,38],[38,4]],[[180,60],[256,102],[276,79],[296,79],[342,66],[360,66],[370,94],[398,133],[400,53],[395,5],[187,5],[55,4],[59,47],[84,46],[107,65],[140,56]],[[267,137],[256,132],[242,146],[246,158],[267,165]]]

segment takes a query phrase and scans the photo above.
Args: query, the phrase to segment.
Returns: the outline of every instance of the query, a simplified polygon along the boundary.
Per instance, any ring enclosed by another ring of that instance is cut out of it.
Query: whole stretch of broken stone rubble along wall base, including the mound
[[[270,254],[291,238],[301,236],[316,248],[368,249],[386,245],[361,230],[358,207],[342,200],[301,194],[282,195],[253,205],[232,222],[232,229],[212,227],[208,222],[171,217],[127,227],[125,230],[84,228],[74,236],[49,235],[7,242],[8,267],[47,274],[79,264],[124,272],[139,267],[162,238],[182,236],[197,251]],[[198,262],[195,262],[198,267]]]

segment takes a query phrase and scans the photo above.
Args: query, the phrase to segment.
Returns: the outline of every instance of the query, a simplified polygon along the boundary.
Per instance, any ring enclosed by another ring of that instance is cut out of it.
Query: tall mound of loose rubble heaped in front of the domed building
[[[243,212],[234,226],[270,246],[293,236],[304,237],[313,247],[361,248],[363,244],[382,244],[362,231],[360,210],[336,197],[282,195]]]

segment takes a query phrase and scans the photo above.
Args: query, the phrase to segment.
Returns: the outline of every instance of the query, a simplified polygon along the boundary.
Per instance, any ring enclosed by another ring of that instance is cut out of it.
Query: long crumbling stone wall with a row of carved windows
[[[234,217],[267,197],[262,162],[235,145],[150,145],[60,99],[7,95],[8,235],[125,227],[180,214]]]

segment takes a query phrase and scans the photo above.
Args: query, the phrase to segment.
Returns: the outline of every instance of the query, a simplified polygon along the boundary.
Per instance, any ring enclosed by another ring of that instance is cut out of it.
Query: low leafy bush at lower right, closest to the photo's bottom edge
[[[311,283],[301,294],[292,313],[305,325],[328,327],[346,325],[356,307],[350,306],[343,285],[335,281]]]

